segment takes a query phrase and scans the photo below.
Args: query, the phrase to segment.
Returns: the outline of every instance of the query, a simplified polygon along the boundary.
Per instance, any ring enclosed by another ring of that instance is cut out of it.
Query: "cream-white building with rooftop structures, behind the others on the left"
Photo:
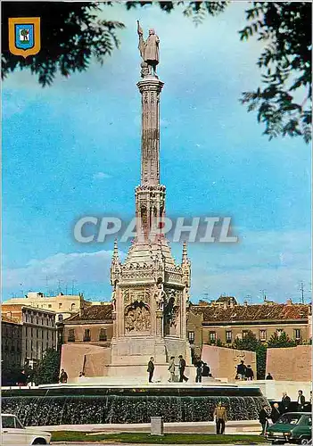
[[[46,296],[45,293],[27,293],[25,297],[14,297],[4,302],[7,305],[26,305],[28,307],[55,312],[55,322],[62,322],[78,311],[92,304],[84,300],[83,294],[63,294]]]

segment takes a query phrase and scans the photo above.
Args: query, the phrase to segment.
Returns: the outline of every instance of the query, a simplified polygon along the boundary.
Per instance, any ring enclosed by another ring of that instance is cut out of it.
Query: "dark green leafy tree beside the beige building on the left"
[[[54,384],[59,382],[60,353],[54,349],[47,349],[43,359],[37,364],[35,372],[36,384]]]

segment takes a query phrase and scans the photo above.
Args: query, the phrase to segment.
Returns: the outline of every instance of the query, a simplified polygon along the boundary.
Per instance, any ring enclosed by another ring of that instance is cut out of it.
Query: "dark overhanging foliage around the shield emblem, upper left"
[[[111,4],[104,2],[103,4]],[[95,2],[2,2],[2,77],[18,68],[38,75],[39,84],[51,85],[57,72],[68,77],[84,71],[93,58],[104,57],[119,46],[119,21],[99,18],[102,7]],[[9,17],[41,18],[41,50],[24,59],[9,53]]]

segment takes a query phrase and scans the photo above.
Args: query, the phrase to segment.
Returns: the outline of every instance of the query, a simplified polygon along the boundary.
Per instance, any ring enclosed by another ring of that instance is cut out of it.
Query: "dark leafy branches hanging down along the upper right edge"
[[[259,56],[262,87],[243,93],[248,111],[258,110],[264,133],[311,138],[311,33],[310,2],[253,2],[246,11],[249,24],[241,40],[257,36],[265,44]]]

